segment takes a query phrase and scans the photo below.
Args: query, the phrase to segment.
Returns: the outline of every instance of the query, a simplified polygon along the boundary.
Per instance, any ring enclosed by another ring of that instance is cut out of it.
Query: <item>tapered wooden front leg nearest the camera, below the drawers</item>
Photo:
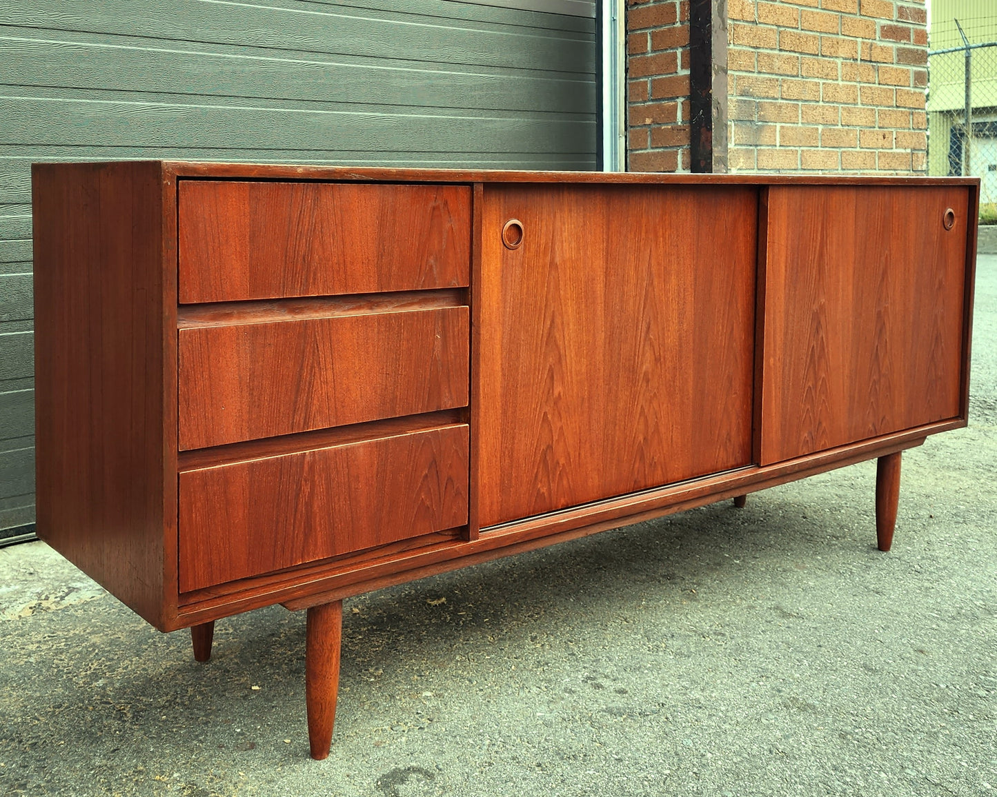
[[[308,743],[321,761],[329,755],[336,721],[339,691],[339,647],[343,638],[343,602],[308,610],[305,643],[305,701],[308,705]]]

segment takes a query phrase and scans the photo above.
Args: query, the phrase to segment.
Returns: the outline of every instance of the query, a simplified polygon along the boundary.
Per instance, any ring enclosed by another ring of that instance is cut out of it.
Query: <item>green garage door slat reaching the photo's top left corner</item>
[[[441,11],[445,10],[441,3]],[[466,6],[447,4],[460,12]],[[6,25],[510,70],[592,73],[590,35],[304,2],[0,0]],[[589,25],[591,27],[591,23]]]

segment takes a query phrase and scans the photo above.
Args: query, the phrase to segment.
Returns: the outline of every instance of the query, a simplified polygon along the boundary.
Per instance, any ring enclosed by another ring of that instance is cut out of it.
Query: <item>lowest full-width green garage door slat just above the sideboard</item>
[[[500,152],[509,141],[518,141],[518,148],[529,152],[563,147],[582,153],[591,151],[595,137],[594,120],[564,115],[468,114],[427,108],[417,115],[415,109],[398,114],[381,106],[326,110],[289,104],[274,108],[241,102],[179,103],[172,98],[22,99],[3,94],[0,105],[5,108],[0,146],[23,141],[85,146],[104,137],[166,150],[182,137],[193,146],[213,148],[255,144],[297,149],[321,140],[336,151],[349,152],[362,143],[367,152],[393,152],[404,130],[407,148],[413,152],[464,151],[476,142],[486,151]],[[253,124],[246,127],[250,119]]]

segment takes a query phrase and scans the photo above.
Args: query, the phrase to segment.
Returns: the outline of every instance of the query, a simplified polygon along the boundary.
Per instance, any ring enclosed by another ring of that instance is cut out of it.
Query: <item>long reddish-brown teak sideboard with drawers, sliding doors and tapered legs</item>
[[[36,164],[39,535],[210,655],[966,424],[979,181]]]

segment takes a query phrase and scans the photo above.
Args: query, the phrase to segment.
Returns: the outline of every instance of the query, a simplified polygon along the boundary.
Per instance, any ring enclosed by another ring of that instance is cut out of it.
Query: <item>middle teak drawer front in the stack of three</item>
[[[467,307],[178,331],[181,450],[468,403]]]

